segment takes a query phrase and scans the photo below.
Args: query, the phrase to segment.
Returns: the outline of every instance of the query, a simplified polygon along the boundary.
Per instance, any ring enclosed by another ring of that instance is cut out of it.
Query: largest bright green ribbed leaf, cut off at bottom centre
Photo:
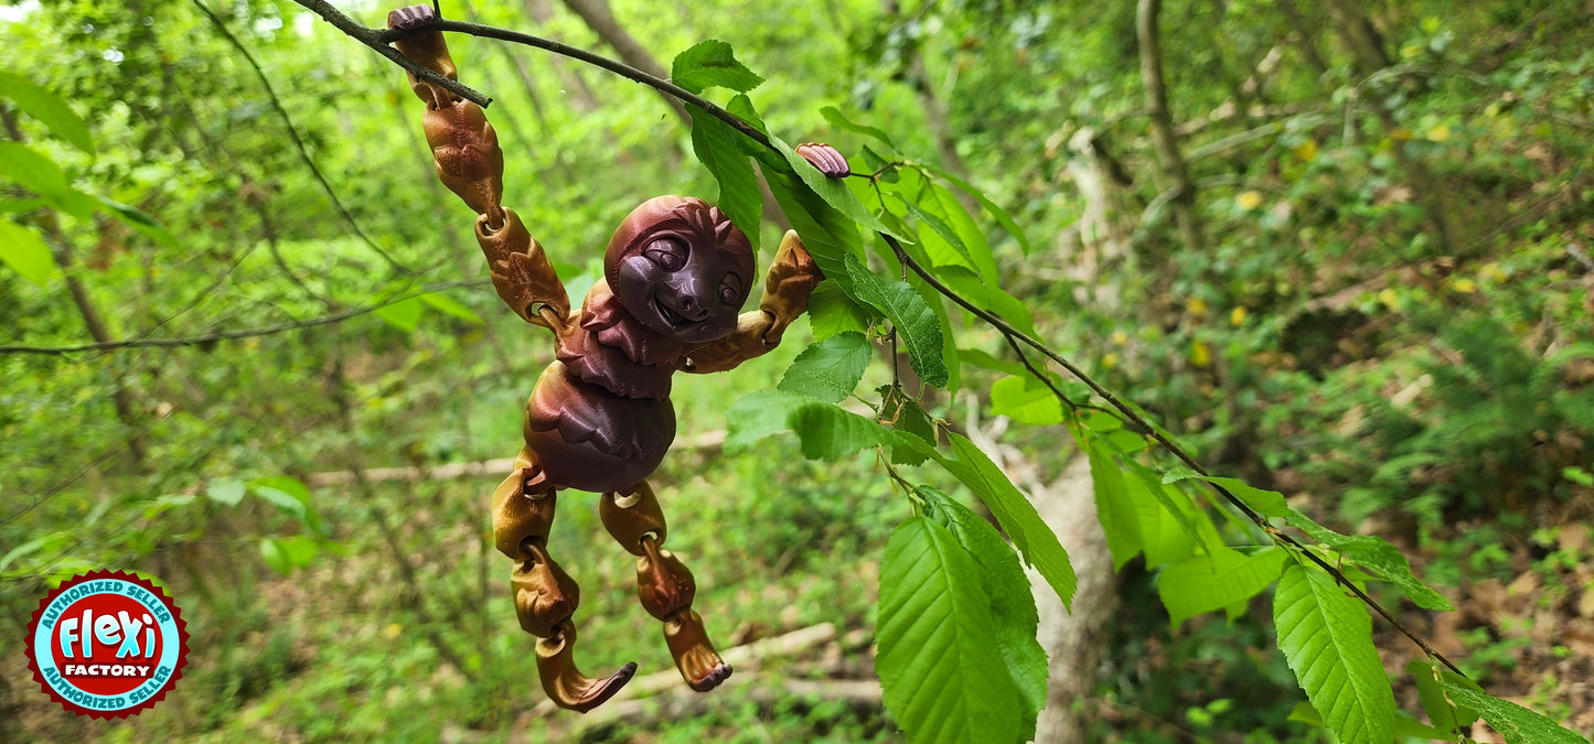
[[[905,521],[886,543],[875,671],[913,742],[1019,741],[1022,691],[990,652],[980,580],[952,532],[929,519]]]

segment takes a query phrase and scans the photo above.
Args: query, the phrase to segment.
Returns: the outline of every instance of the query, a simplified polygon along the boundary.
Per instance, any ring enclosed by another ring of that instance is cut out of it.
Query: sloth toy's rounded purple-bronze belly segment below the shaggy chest
[[[526,403],[524,433],[553,486],[622,491],[663,462],[676,409],[669,398],[626,398],[582,382],[553,362]]]

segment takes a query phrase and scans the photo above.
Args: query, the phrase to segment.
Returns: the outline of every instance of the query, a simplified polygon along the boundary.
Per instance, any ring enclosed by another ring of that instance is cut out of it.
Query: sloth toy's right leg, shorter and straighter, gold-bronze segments
[[[647,481],[628,491],[603,494],[598,507],[604,527],[626,551],[638,556],[636,596],[649,615],[665,623],[665,644],[676,669],[693,690],[706,693],[730,677],[727,664],[692,610],[697,581],[692,572],[663,548],[665,513]]]

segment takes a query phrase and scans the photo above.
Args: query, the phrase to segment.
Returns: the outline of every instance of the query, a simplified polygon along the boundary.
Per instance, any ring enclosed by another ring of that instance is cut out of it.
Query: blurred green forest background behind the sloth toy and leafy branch
[[[368,25],[389,10],[338,5]],[[754,97],[787,140],[861,163],[867,140],[819,113],[835,107],[976,183],[1035,244],[1025,256],[990,226],[1052,346],[1216,470],[1393,540],[1459,609],[1380,594],[1403,621],[1490,693],[1594,731],[1594,3],[1140,5],[1162,5],[1156,54],[1132,2],[442,10],[644,69],[722,38],[768,78]],[[676,379],[660,473],[720,645],[783,640],[711,696],[548,715],[489,538],[507,465],[481,464],[518,449],[552,344],[486,285],[402,72],[287,2],[8,2],[0,40],[0,72],[67,99],[92,140],[0,97],[0,241],[27,229],[54,258],[0,269],[0,637],[96,567],[159,580],[193,636],[175,691],[113,723],[49,703],[11,644],[0,738],[897,741],[870,639],[907,502],[867,456],[720,446],[725,406],[775,386],[805,322],[735,373]],[[713,196],[684,112],[650,89],[450,43],[496,99],[505,204],[572,296],[636,202]],[[14,143],[108,201],[40,209]],[[124,339],[186,341],[18,349]],[[925,400],[1038,500],[1078,478],[1060,427],[990,403]],[[583,668],[674,674],[631,559],[580,494],[566,503]],[[1111,617],[1063,711],[1084,741],[1328,741],[1290,720],[1304,696],[1267,612],[1170,631],[1137,564],[1076,599]],[[1377,632],[1388,669],[1420,655]]]

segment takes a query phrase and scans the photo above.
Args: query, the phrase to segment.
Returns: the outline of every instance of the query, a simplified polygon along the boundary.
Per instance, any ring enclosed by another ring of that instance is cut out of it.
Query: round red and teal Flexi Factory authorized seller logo
[[[121,570],[73,577],[38,602],[27,666],[78,715],[124,719],[159,703],[188,663],[188,628],[166,593]]]

